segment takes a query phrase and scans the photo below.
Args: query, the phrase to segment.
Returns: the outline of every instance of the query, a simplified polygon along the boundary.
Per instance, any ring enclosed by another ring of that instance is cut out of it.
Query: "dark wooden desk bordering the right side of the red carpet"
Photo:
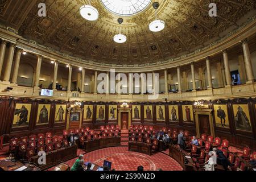
[[[193,171],[193,161],[191,158],[187,158],[188,163],[185,164],[185,156],[189,156],[188,152],[181,148],[177,148],[175,145],[169,144],[169,155],[175,159],[184,171]]]

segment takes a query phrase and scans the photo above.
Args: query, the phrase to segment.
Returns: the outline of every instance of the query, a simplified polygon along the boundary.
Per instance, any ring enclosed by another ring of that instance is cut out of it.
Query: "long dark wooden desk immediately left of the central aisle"
[[[105,147],[114,147],[121,145],[121,137],[108,137],[84,142],[84,150],[90,152]]]

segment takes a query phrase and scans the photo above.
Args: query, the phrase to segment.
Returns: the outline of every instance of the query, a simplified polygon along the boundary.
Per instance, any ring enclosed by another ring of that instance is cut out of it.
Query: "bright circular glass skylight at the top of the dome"
[[[146,9],[151,0],[101,0],[101,2],[107,10],[114,14],[130,16]]]

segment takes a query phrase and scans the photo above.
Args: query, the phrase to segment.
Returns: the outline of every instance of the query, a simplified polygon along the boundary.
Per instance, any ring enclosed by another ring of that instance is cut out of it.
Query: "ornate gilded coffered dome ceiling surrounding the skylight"
[[[93,0],[99,18],[89,22],[79,11],[89,1],[47,0],[47,17],[40,18],[40,0],[22,23],[19,34],[81,59],[122,65],[155,63],[209,44],[228,27],[238,27],[237,20],[256,9],[254,0],[216,1],[217,17],[210,17],[208,6],[212,1],[158,0],[157,16],[166,22],[166,27],[151,32],[148,24],[155,19],[154,0],[118,0],[123,1],[118,8],[114,1],[117,0]],[[117,22],[120,17],[121,26]],[[127,36],[126,43],[113,41],[119,32]]]

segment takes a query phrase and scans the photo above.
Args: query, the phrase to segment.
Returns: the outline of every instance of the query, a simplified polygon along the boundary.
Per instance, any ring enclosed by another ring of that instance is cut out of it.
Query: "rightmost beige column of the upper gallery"
[[[251,66],[251,55],[247,40],[242,40],[243,45],[243,55],[245,56],[245,70],[246,70],[246,77],[247,82],[254,81],[254,74],[253,74],[253,67]]]

